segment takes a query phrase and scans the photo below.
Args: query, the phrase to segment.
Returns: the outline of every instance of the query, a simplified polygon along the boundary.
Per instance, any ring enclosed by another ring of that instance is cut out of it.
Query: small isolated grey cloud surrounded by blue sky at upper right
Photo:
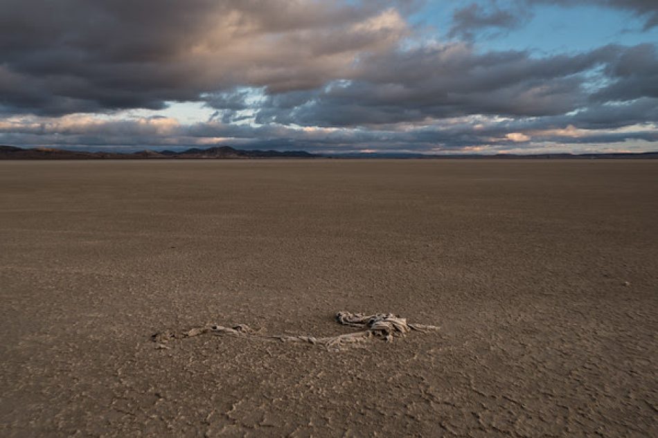
[[[448,36],[474,39],[475,35],[481,33],[483,29],[512,29],[520,26],[528,17],[528,12],[521,9],[504,10],[496,5],[486,9],[478,3],[471,3],[453,12],[452,27]]]

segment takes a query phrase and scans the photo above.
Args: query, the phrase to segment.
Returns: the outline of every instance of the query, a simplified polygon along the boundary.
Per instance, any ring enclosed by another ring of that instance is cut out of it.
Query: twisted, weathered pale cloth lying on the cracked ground
[[[188,331],[175,333],[174,331],[163,331],[152,336],[153,342],[157,343],[157,348],[168,349],[166,345],[170,340],[192,338],[202,334],[215,335],[233,335],[245,336],[251,338],[260,338],[267,340],[280,340],[281,342],[292,343],[310,343],[321,345],[327,349],[342,349],[350,345],[364,343],[368,340],[380,338],[386,342],[393,342],[393,336],[404,335],[410,331],[430,331],[438,330],[439,327],[434,325],[416,324],[407,322],[406,318],[400,318],[393,313],[376,313],[375,315],[364,315],[363,313],[350,313],[339,311],[336,313],[336,321],[341,325],[357,327],[360,330],[353,333],[342,334],[338,336],[326,336],[317,338],[315,336],[290,336],[290,335],[267,335],[261,334],[260,331],[251,329],[246,324],[239,324],[233,327],[224,327],[222,325],[205,325],[195,327]]]

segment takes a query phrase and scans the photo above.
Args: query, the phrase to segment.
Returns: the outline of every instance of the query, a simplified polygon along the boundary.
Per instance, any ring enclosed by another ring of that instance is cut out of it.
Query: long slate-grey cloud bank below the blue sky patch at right
[[[650,44],[538,59],[526,52],[482,54],[468,44],[447,44],[375,55],[357,79],[269,95],[255,108],[256,120],[373,127],[470,114],[556,116],[592,102],[655,97],[657,71]],[[605,85],[589,86],[593,74]]]

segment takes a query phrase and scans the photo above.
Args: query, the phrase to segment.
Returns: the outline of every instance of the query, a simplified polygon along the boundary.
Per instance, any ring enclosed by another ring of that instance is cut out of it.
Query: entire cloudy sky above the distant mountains
[[[656,0],[0,0],[0,144],[658,150]]]

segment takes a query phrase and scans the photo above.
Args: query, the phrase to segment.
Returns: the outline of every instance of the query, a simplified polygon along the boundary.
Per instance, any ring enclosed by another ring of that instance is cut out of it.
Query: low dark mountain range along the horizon
[[[409,153],[346,153],[346,154],[311,154],[305,151],[261,151],[234,149],[230,146],[210,147],[208,149],[192,148],[182,152],[152,151],[141,152],[83,152],[37,147],[22,149],[15,146],[0,145],[0,160],[167,160],[167,159],[248,159],[248,158],[423,158],[423,159],[658,159],[658,152],[641,152],[637,154],[409,154]]]

